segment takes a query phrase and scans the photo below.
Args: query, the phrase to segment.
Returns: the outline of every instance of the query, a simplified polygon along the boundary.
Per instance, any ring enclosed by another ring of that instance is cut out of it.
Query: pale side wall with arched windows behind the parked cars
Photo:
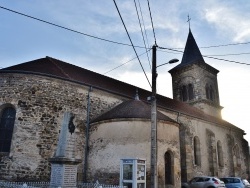
[[[180,116],[180,143],[181,143],[181,166],[183,181],[190,180],[198,175],[213,175],[218,177],[235,175],[232,150],[235,145],[239,146],[240,153],[240,171],[238,176],[247,177],[248,157],[245,154],[243,132],[233,126],[221,126],[204,122],[188,116]],[[228,140],[230,135],[230,142]],[[200,141],[201,165],[194,163],[194,137],[197,136]],[[223,166],[218,163],[217,143],[222,144]],[[237,167],[238,168],[238,167]]]

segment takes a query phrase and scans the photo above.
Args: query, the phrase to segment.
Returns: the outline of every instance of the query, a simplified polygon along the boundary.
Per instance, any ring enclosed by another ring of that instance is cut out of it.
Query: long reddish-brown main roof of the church
[[[0,69],[0,74],[1,73],[36,74],[56,77],[59,79],[77,82],[86,86],[92,86],[93,88],[102,89],[110,93],[126,97],[128,99],[133,99],[135,91],[138,89],[140,99],[144,102],[147,102],[147,97],[151,96],[151,91],[138,88],[136,86],[48,56],[45,58]],[[225,126],[234,126],[220,118],[207,115],[198,108],[162,95],[157,95],[157,106],[208,122],[213,122]]]

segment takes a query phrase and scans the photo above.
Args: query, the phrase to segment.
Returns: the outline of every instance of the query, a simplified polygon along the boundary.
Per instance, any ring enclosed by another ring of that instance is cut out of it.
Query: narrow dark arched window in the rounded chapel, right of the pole
[[[173,185],[173,166],[174,166],[174,160],[173,160],[173,154],[171,151],[167,151],[165,153],[165,184],[169,185],[172,184]]]

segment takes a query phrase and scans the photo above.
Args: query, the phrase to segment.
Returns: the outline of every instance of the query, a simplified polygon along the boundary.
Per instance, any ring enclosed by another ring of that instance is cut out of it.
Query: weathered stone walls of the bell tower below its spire
[[[194,99],[187,101],[187,103],[199,108],[207,114],[221,117],[217,75],[196,64],[173,73],[173,98],[181,101],[180,88],[182,85],[187,86],[188,84],[193,84]],[[212,85],[214,88],[214,101],[207,100],[206,98],[206,84]]]

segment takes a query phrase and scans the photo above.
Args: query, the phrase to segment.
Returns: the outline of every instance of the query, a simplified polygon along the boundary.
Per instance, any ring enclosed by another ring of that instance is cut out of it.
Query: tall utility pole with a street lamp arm
[[[168,63],[156,66],[156,45],[152,47],[152,96],[151,96],[151,161],[150,178],[151,188],[157,188],[157,106],[156,106],[156,68],[165,64],[176,63],[178,59],[172,59]]]

